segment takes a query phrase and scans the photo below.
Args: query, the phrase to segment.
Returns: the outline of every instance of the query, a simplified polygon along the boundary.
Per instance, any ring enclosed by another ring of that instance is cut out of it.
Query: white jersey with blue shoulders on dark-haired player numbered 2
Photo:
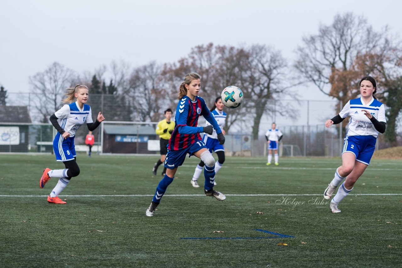
[[[349,122],[349,129],[346,132],[346,136],[378,136],[378,131],[371,123],[370,119],[365,116],[364,110],[369,110],[371,115],[379,122],[387,122],[385,118],[384,104],[372,98],[369,103],[365,104],[363,98],[355,98],[349,100],[347,104],[340,111],[339,116],[346,118],[351,117]]]

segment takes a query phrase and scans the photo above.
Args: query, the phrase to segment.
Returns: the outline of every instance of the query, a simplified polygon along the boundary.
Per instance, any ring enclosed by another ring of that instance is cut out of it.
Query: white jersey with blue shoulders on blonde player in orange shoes
[[[80,109],[78,102],[65,104],[60,110],[57,110],[54,115],[57,117],[57,123],[64,131],[70,133],[70,137],[74,137],[77,129],[84,123],[93,123],[92,111],[88,104]]]

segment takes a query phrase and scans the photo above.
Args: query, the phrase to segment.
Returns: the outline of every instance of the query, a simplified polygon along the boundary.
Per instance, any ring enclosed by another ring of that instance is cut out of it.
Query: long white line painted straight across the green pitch
[[[321,196],[322,194],[225,194],[226,196]],[[355,194],[353,195],[402,195],[402,194]],[[154,196],[154,194],[66,194],[64,197],[129,197]],[[205,196],[205,194],[164,194],[163,196]],[[47,197],[47,195],[12,195],[0,194],[0,197]]]

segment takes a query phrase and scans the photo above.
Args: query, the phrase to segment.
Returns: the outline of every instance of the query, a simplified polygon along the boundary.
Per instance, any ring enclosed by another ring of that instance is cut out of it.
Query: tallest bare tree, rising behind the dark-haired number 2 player
[[[332,25],[320,25],[317,35],[303,38],[303,45],[297,47],[294,67],[306,82],[314,83],[324,94],[345,102],[349,85],[344,83],[342,88],[337,88],[338,94],[334,94],[328,89],[333,76],[350,70],[359,55],[375,50],[384,42],[387,31],[387,28],[381,33],[374,31],[362,16],[338,14]]]

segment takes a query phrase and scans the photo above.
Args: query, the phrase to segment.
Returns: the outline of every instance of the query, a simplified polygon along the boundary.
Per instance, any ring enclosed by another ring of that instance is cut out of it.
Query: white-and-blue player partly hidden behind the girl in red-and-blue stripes
[[[222,133],[225,135],[225,131],[224,131],[224,126],[226,123],[226,113],[223,111],[224,109],[224,104],[222,103],[222,99],[221,97],[217,97],[215,99],[214,105],[211,108],[211,114],[213,115],[213,117],[215,118],[216,122],[219,125],[219,128],[222,130]],[[208,121],[205,124],[206,126],[211,125]],[[205,133],[203,136],[203,142],[205,143],[205,146],[208,148],[209,152],[212,153],[212,151],[214,151],[217,155],[218,155],[218,161],[215,164],[215,174],[218,172],[218,170],[220,170],[222,168],[222,165],[225,162],[225,149],[224,149],[224,145],[219,144],[219,140],[216,134],[216,131],[214,130],[213,133],[211,135]],[[194,175],[193,175],[193,179],[191,180],[191,185],[193,185],[193,187],[199,187],[198,185],[198,178],[201,175],[201,172],[203,170],[205,166],[205,163],[203,161],[201,161],[197,167],[195,168],[194,171]],[[215,178],[216,180],[216,178]],[[213,182],[213,185],[216,185],[216,182]]]

